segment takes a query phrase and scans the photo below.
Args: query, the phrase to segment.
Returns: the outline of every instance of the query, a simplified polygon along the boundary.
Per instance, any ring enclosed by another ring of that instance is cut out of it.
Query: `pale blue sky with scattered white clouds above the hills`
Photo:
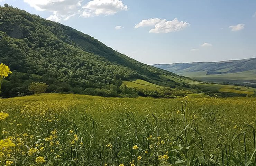
[[[256,57],[255,0],[0,0],[145,64]]]

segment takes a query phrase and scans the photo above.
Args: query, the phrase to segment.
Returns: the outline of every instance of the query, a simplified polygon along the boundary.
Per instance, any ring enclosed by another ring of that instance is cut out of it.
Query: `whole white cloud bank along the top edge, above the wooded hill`
[[[47,19],[52,21],[68,20],[75,15],[93,17],[99,15],[113,15],[128,7],[121,0],[91,0],[83,4],[84,0],[23,0],[39,11],[52,12]]]

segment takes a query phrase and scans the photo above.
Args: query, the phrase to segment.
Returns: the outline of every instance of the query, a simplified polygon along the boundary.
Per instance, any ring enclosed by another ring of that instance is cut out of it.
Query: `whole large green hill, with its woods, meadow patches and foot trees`
[[[32,82],[46,83],[47,92],[100,96],[247,95],[254,90],[220,91],[223,86],[140,63],[89,35],[17,8],[0,7],[0,39],[0,62],[13,71],[3,81],[4,98],[32,94]]]

